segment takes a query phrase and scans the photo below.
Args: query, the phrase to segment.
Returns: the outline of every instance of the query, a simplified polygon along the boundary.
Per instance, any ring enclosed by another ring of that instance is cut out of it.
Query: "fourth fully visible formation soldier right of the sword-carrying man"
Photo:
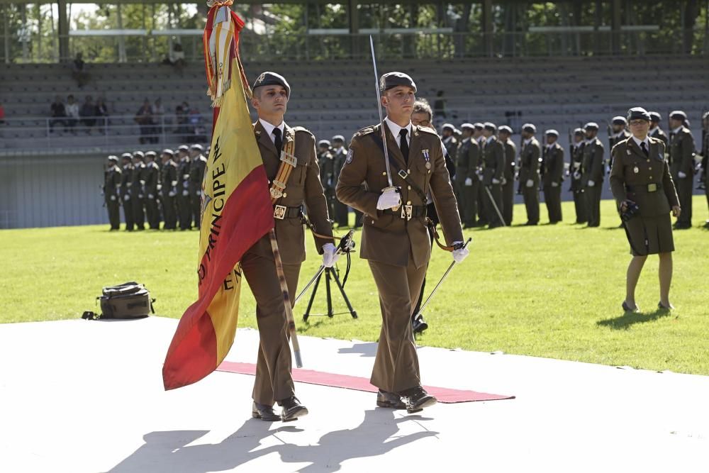
[[[532,123],[522,126],[522,145],[520,147],[520,189],[527,210],[527,223],[539,223],[539,168],[542,160],[542,150],[537,138],[537,127]]]

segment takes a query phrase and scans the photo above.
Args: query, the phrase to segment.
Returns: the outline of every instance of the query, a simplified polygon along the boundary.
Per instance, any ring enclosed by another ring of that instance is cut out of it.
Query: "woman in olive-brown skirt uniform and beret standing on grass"
[[[664,143],[648,136],[650,116],[644,108],[631,108],[627,120],[632,137],[613,148],[610,189],[621,214],[630,243],[632,260],[627,268],[623,310],[637,311],[635,286],[647,255],[659,256],[661,310],[670,310],[669,288],[672,281],[674,240],[670,210],[681,216],[679,199],[665,160]],[[635,208],[637,206],[637,208]],[[635,208],[635,216],[628,216]]]

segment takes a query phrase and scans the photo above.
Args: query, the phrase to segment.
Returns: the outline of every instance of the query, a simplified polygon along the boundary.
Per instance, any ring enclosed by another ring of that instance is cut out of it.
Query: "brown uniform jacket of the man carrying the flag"
[[[264,162],[269,183],[275,179],[281,165],[280,152],[271,137],[266,133],[260,121],[254,125],[254,133]],[[283,144],[296,140],[294,155],[298,163],[291,171],[286,182],[284,194],[276,204],[286,207],[305,206],[308,219],[313,223],[316,232],[321,235],[332,235],[333,228],[328,216],[328,202],[320,184],[320,167],[315,150],[315,137],[305,128],[284,127]],[[270,184],[269,184],[270,185]],[[286,265],[296,265],[306,259],[305,229],[300,218],[284,218],[276,221],[276,238],[278,240],[281,260]],[[325,243],[333,240],[315,238],[316,248],[322,254]],[[273,260],[273,250],[268,235],[261,238],[251,247],[250,252]]]

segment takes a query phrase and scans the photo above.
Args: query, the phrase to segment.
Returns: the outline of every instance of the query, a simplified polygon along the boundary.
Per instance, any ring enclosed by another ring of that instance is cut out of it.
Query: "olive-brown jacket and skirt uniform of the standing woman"
[[[679,205],[679,199],[665,160],[664,143],[655,138],[648,140],[648,156],[632,138],[621,141],[611,151],[610,189],[618,207],[627,199],[640,208],[638,216],[625,222],[634,256],[674,251],[670,211]]]

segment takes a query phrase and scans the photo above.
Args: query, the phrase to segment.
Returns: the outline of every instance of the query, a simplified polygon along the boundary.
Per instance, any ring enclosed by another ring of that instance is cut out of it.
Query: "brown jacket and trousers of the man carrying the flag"
[[[260,121],[255,123],[254,133],[267,177],[272,182],[281,165],[280,150],[276,150],[274,141]],[[305,128],[285,125],[282,138],[284,148],[292,140],[296,140],[294,155],[297,165],[286,182],[283,196],[276,203],[286,208],[284,218],[275,220],[286,284],[292,295],[291,304],[295,301],[301,263],[306,259],[303,205],[317,233],[333,234],[328,203],[320,184],[315,137]],[[315,243],[318,252],[322,254],[323,245],[333,243],[333,240],[316,238]],[[269,235],[264,235],[245,252],[241,268],[256,299],[256,321],[261,340],[253,399],[259,404],[272,406],[275,401],[293,396],[294,384],[291,378],[291,349],[288,345],[283,292],[276,273]]]

